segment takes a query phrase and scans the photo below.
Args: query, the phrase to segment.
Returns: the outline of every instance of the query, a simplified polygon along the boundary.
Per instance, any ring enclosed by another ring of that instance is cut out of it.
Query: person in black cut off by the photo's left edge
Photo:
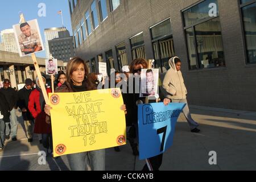
[[[5,122],[10,122],[10,111],[6,107],[8,102],[6,101],[5,96],[0,92],[0,151],[3,150],[5,146]]]

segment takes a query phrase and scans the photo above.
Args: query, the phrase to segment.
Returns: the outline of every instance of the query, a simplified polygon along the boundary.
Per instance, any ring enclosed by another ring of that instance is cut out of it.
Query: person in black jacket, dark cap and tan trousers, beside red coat
[[[20,110],[22,110],[22,117],[24,120],[24,125],[26,127],[26,133],[28,142],[32,142],[33,138],[33,121],[34,118],[32,117],[32,114],[28,110],[28,101],[30,97],[30,93],[34,90],[32,87],[32,80],[30,78],[27,78],[25,80],[25,86],[24,88],[20,89],[18,92],[19,100],[18,100],[18,107]]]

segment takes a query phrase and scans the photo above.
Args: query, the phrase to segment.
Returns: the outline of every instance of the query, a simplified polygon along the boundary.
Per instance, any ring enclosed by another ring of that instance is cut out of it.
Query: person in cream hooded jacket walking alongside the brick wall
[[[188,102],[187,102],[187,89],[184,84],[183,76],[180,71],[181,60],[179,57],[172,57],[169,60],[170,69],[166,73],[166,76],[163,80],[163,88],[167,91],[167,97],[172,100],[174,103],[185,103],[183,113],[185,118],[188,121],[189,126],[191,127],[192,133],[199,133],[200,130],[197,129],[199,124],[195,122],[189,111]]]

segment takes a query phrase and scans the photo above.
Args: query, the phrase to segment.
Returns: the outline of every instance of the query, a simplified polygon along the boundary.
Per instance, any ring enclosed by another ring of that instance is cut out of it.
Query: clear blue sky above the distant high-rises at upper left
[[[39,3],[46,4],[46,16],[39,17]],[[68,28],[72,35],[71,18],[67,0],[7,0],[1,1],[0,5],[0,31],[13,28],[14,24],[19,23],[19,12],[24,14],[26,20],[38,19],[40,32],[44,41],[44,28],[62,27],[61,15],[57,12],[61,10],[63,13],[64,26]],[[45,52],[36,53],[36,56],[45,57]]]

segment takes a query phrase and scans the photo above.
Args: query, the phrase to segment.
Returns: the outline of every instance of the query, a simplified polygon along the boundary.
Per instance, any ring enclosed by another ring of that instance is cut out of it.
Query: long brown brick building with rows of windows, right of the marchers
[[[255,0],[68,0],[76,55],[121,70],[179,56],[192,105],[256,110]]]

